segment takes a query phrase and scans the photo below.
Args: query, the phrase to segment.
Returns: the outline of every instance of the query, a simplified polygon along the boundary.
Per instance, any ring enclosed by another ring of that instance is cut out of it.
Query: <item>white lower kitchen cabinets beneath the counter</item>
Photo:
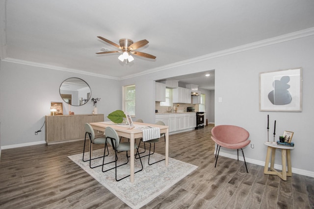
[[[155,120],[169,126],[169,133],[188,131],[196,127],[195,113],[157,114]]]

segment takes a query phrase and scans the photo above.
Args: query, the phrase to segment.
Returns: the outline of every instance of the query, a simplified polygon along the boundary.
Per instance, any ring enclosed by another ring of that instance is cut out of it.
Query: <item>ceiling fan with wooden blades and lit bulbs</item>
[[[120,39],[119,40],[119,44],[120,45],[117,45],[116,43],[113,43],[101,36],[97,36],[98,38],[100,38],[101,40],[107,42],[108,44],[111,44],[117,48],[119,48],[120,50],[117,50],[117,51],[103,51],[103,52],[97,52],[96,54],[109,54],[109,53],[117,53],[117,52],[120,52],[122,53],[118,59],[120,61],[126,61],[127,60],[129,62],[132,62],[134,60],[134,58],[130,55],[131,54],[134,54],[134,55],[137,55],[137,56],[141,56],[141,57],[145,57],[145,58],[150,58],[150,59],[155,59],[156,56],[154,55],[151,55],[151,54],[147,54],[147,53],[144,53],[144,52],[140,52],[140,51],[134,51],[135,49],[138,49],[140,47],[143,47],[145,45],[148,44],[148,41],[146,39],[144,40],[141,40],[141,41],[138,41],[138,42],[135,42],[133,43],[132,40],[130,39]]]

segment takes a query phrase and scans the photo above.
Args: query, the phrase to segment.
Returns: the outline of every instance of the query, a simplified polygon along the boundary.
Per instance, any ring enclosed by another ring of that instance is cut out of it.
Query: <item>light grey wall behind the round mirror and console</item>
[[[2,61],[1,147],[45,141],[45,127],[37,136],[34,133],[43,125],[45,115],[50,114],[51,102],[63,102],[63,115],[68,115],[69,105],[60,97],[59,87],[70,77],[85,80],[91,88],[91,96],[101,98],[97,103],[99,114],[107,116],[122,108],[120,81]],[[93,108],[93,103],[88,101],[83,106],[71,106],[71,111],[92,114]]]

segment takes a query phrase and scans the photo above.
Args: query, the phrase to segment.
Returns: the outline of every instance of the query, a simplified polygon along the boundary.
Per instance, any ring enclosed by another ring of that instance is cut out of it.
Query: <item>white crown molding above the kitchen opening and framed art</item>
[[[158,72],[158,71],[162,71],[162,70],[169,70],[169,69],[180,67],[180,66],[184,66],[184,65],[189,65],[189,64],[193,64],[193,63],[197,63],[197,62],[202,62],[202,61],[214,59],[214,58],[217,58],[217,57],[222,57],[222,56],[226,56],[226,55],[230,55],[230,54],[235,54],[235,53],[239,53],[239,52],[243,52],[243,51],[248,51],[248,50],[260,48],[260,47],[263,47],[263,46],[275,45],[275,44],[279,44],[279,43],[282,43],[282,42],[287,42],[287,41],[291,41],[291,40],[294,40],[294,39],[304,38],[304,37],[313,36],[313,35],[314,35],[314,27],[308,28],[308,29],[305,29],[305,30],[296,31],[296,32],[293,32],[293,33],[288,33],[288,34],[285,34],[285,35],[282,35],[282,36],[277,36],[277,37],[270,38],[270,39],[265,39],[265,40],[258,41],[258,42],[253,42],[253,43],[242,45],[242,46],[236,46],[236,47],[233,47],[233,48],[229,48],[229,49],[213,52],[213,53],[210,53],[210,54],[206,54],[206,55],[203,55],[203,56],[199,56],[199,57],[195,57],[195,58],[192,58],[192,59],[184,60],[184,61],[181,61],[181,62],[172,63],[172,64],[165,65],[165,66],[162,66],[162,67],[158,67],[158,68],[154,68],[154,69],[150,69],[150,70],[145,70],[145,71],[140,72],[140,73],[136,73],[136,74],[132,74],[132,75],[129,75],[129,76],[122,77],[121,79],[137,77],[137,76],[141,76],[141,75],[145,75],[145,74],[149,74],[149,73],[153,73],[153,72]]]

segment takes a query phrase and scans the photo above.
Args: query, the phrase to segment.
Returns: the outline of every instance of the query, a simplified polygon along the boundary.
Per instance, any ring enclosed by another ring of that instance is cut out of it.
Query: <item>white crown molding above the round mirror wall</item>
[[[47,64],[37,63],[37,62],[29,62],[26,60],[14,59],[14,58],[5,58],[2,61],[3,62],[16,63],[16,64],[22,64],[22,65],[28,65],[28,66],[33,66],[33,67],[39,67],[39,68],[46,68],[46,69],[51,69],[51,70],[61,70],[61,71],[66,71],[66,72],[74,72],[74,73],[78,73],[78,74],[108,78],[108,79],[113,79],[113,80],[120,80],[120,78],[117,78],[117,77],[112,77],[112,76],[107,76],[107,75],[103,75],[103,74],[88,72],[88,71],[84,71],[84,70],[63,68],[63,67],[47,65]]]

